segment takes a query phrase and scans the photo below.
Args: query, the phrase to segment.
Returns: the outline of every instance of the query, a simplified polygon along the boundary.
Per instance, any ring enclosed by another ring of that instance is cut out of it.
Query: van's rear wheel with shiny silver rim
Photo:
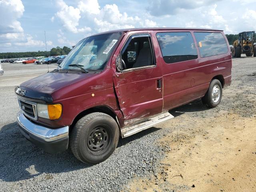
[[[208,91],[202,98],[202,102],[210,108],[214,108],[220,104],[222,98],[222,84],[218,79],[211,81]]]

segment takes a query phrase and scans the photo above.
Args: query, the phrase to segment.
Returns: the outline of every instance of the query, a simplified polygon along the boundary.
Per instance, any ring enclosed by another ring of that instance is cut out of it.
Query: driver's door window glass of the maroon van
[[[131,36],[121,51],[121,58],[123,70],[154,65],[150,36]]]

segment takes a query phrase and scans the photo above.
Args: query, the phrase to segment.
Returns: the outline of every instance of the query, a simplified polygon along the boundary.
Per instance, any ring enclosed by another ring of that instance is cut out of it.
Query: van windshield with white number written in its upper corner
[[[121,33],[102,34],[78,42],[60,64],[61,70],[102,70],[112,54]]]

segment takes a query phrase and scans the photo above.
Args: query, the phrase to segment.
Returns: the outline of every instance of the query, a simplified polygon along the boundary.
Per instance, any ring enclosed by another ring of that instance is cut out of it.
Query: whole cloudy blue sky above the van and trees
[[[98,32],[134,27],[256,30],[255,0],[0,0],[0,52],[74,46]]]

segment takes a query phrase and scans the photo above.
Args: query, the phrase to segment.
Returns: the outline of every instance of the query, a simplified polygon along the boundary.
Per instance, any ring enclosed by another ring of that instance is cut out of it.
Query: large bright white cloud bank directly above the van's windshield
[[[69,32],[103,32],[121,28],[134,27],[156,27],[156,22],[138,16],[128,16],[126,12],[121,13],[116,4],[106,4],[100,8],[98,0],[81,0],[77,8],[68,6],[63,0],[57,0],[56,4],[60,10],[55,14],[62,22],[64,29]],[[90,21],[87,27],[78,29],[80,18]],[[94,30],[92,30],[92,28]]]

